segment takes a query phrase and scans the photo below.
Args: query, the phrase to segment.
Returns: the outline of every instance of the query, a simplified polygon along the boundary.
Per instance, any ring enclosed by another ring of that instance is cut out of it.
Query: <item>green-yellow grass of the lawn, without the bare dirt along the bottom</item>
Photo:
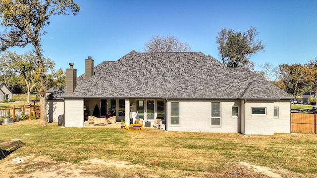
[[[0,125],[0,146],[3,141],[19,139],[25,145],[14,151],[17,156],[45,156],[54,162],[75,165],[94,158],[128,161],[131,165],[142,165],[147,168],[144,172],[135,173],[139,177],[147,177],[146,173],[149,172],[162,178],[186,175],[227,177],[226,174],[232,176],[233,171],[239,172],[241,177],[259,176],[253,174],[252,170],[243,168],[239,162],[271,169],[285,169],[289,171],[290,177],[299,173],[317,177],[317,135],[315,134],[244,136],[163,132],[147,128],[142,131],[106,127],[61,128],[56,123],[41,127],[39,123],[39,120],[31,120],[13,125]],[[4,150],[9,149],[3,145],[1,147]],[[36,166],[25,168],[28,168],[28,171],[32,169],[35,171]],[[172,173],[159,172],[158,169],[175,170],[181,175],[172,176]],[[23,174],[27,174],[23,173],[22,167],[17,171],[20,171],[22,177]],[[132,175],[134,172],[131,170],[123,171],[131,177],[135,176]],[[104,172],[100,170],[98,175],[103,177]],[[116,177],[115,175],[119,173],[113,170],[111,174]],[[260,174],[259,177],[262,176]]]

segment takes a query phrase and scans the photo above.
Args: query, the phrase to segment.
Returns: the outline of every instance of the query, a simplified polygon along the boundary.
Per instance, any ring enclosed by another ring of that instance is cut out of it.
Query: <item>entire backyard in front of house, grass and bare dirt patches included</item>
[[[0,160],[4,177],[317,177],[315,134],[41,127],[39,120],[29,120],[0,125],[2,150],[13,144],[21,147]],[[15,158],[24,162],[11,161]]]

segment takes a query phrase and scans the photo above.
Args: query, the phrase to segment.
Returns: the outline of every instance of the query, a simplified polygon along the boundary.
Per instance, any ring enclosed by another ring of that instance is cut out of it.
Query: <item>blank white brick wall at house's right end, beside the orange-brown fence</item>
[[[286,101],[274,101],[274,107],[278,107],[278,118],[273,119],[274,133],[291,133],[291,104]]]

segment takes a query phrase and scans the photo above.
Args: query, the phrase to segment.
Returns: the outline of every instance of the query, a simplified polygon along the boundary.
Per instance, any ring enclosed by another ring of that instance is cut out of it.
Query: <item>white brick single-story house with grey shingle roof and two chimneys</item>
[[[291,129],[291,95],[249,69],[228,68],[202,52],[133,50],[97,66],[88,57],[79,77],[70,63],[65,88],[51,96],[48,101],[55,104],[48,105],[64,114],[65,127],[83,127],[87,115],[105,117],[112,110],[126,125],[136,120],[136,112],[144,122],[162,119],[167,131],[274,134]]]

